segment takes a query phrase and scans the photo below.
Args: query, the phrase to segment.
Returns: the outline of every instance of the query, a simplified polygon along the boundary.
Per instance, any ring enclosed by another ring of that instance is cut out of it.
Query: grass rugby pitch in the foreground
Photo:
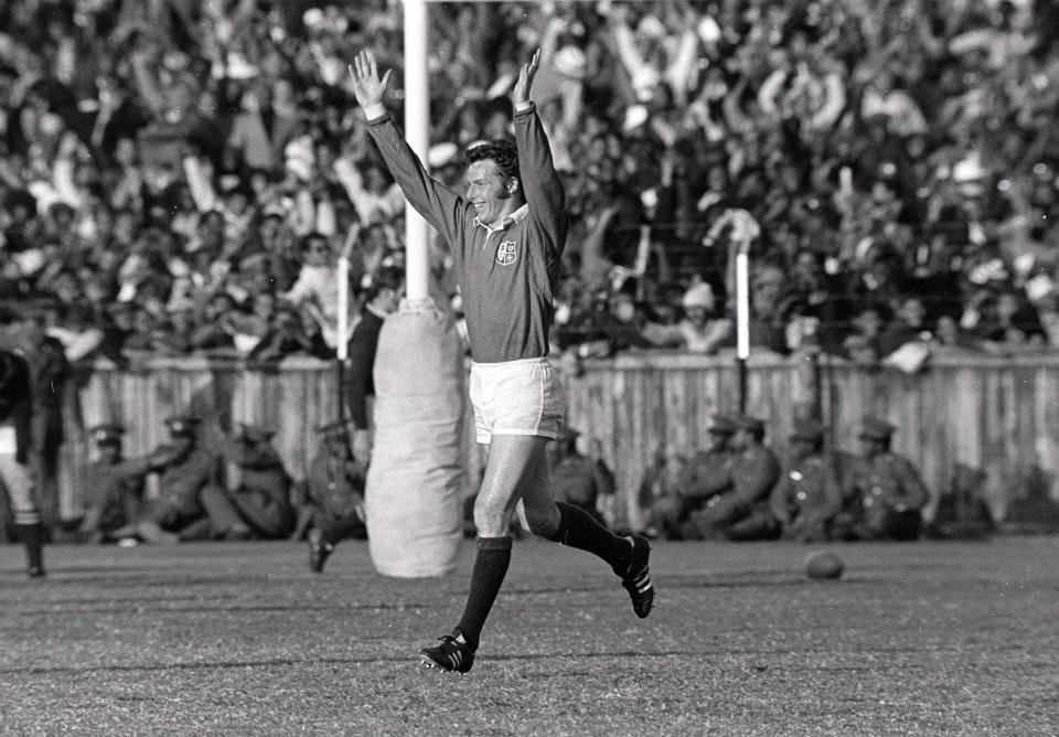
[[[592,556],[515,543],[464,676],[418,664],[446,579],[323,575],[296,543],[0,546],[3,734],[1059,734],[1059,538],[655,543],[655,611]]]

